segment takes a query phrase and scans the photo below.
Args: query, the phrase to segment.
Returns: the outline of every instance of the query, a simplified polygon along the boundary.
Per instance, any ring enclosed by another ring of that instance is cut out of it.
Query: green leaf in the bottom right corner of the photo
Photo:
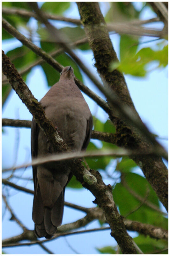
[[[156,254],[156,251],[161,251],[168,247],[168,241],[156,240],[149,236],[139,235],[133,238],[133,240],[144,254]],[[158,254],[168,254],[168,250]]]

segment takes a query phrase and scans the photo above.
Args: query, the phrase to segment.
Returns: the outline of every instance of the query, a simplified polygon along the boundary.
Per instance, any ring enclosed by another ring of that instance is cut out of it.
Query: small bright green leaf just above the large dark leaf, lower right
[[[121,162],[117,164],[115,170],[120,172],[130,172],[136,166],[137,164],[129,157],[122,157]]]

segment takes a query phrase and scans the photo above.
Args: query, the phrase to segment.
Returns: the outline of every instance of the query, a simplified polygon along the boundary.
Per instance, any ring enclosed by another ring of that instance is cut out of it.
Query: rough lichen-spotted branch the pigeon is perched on
[[[31,91],[22,80],[22,77],[18,74],[16,68],[11,63],[9,58],[4,54],[4,52],[2,52],[2,70],[4,75],[7,76],[13,89],[26,104],[37,124],[51,142],[55,151],[60,152],[67,150],[68,146],[58,135],[55,127],[51,124],[51,122],[48,121],[43,108],[33,97]],[[95,196],[96,199],[94,202],[97,203],[103,210],[107,222],[111,228],[111,236],[115,238],[122,249],[122,252],[135,254],[136,250],[132,243],[132,238],[128,235],[122,217],[120,216],[113,201],[111,185],[105,185],[99,172],[94,170],[86,170],[80,160],[68,162],[68,167],[76,176],[77,180],[81,182],[83,187],[89,189]]]

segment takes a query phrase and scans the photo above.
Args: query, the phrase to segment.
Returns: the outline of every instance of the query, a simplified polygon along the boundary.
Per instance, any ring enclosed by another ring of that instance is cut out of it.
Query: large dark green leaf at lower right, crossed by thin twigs
[[[120,213],[123,216],[126,216],[137,209],[138,206],[141,206],[127,218],[166,228],[167,219],[163,217],[161,213],[153,210],[146,204],[142,204],[142,202],[133,195],[137,194],[143,199],[147,196],[147,201],[159,208],[158,197],[147,180],[136,173],[129,172],[124,175],[124,182],[131,189],[131,193],[122,185],[122,183],[117,183],[113,189],[113,198],[116,205],[119,207]]]

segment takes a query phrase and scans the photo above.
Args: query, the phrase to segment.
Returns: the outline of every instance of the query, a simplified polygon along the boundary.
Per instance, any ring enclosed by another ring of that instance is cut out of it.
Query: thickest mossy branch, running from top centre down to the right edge
[[[124,104],[136,111],[123,74],[117,69],[110,71],[110,64],[118,61],[118,59],[109,38],[104,17],[100,12],[99,4],[97,2],[77,2],[77,5],[89,45],[94,54],[95,67],[103,83],[107,83]],[[136,116],[140,119],[137,111]],[[129,127],[116,115],[110,115],[110,119],[116,127],[114,135],[117,146],[146,151],[152,146],[134,127]],[[131,158],[140,166],[146,179],[168,211],[168,171],[161,157],[139,155]]]

